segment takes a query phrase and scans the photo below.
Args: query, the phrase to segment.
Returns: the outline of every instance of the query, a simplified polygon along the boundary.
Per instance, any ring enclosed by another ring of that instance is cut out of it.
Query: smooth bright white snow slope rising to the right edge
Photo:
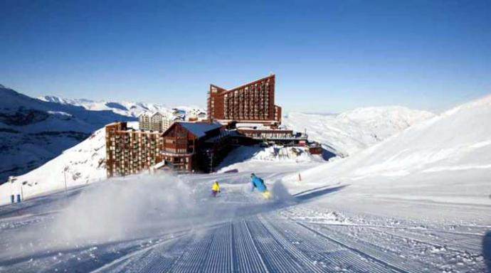
[[[490,118],[488,95],[302,176],[361,195],[491,205]]]

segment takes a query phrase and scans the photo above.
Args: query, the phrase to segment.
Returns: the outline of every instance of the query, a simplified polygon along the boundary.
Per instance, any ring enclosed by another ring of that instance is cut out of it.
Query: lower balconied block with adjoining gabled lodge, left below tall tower
[[[159,164],[177,171],[211,172],[230,149],[231,132],[221,124],[174,122],[164,132],[108,124],[107,177],[139,173]]]

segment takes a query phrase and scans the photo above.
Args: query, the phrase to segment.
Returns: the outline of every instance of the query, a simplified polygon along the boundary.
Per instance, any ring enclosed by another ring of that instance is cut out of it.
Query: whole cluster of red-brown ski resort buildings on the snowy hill
[[[199,110],[174,108],[171,114],[142,113],[139,130],[126,122],[106,126],[107,176],[125,176],[149,168],[212,172],[231,147],[249,144],[305,146],[321,154],[322,146],[307,134],[281,128],[275,105],[275,75],[223,89],[210,85],[208,118]],[[170,116],[170,118],[168,117]]]

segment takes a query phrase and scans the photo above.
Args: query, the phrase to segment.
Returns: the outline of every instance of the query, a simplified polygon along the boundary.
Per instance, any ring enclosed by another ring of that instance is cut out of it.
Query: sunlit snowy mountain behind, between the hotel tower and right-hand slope
[[[349,156],[402,132],[413,124],[434,117],[406,107],[365,107],[342,114],[290,113],[283,124],[339,156]]]

